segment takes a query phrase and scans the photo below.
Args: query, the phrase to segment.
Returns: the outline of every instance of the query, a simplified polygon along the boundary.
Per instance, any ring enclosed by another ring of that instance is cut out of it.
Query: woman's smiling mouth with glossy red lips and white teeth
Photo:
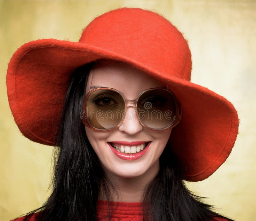
[[[132,145],[132,146],[108,142],[108,146],[111,148],[113,153],[123,160],[136,160],[142,157],[147,152],[150,144],[151,144],[151,141],[145,142],[140,145]]]

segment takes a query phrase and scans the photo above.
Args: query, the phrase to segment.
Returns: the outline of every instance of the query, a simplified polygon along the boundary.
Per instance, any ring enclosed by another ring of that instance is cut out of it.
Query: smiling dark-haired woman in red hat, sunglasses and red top
[[[94,19],[78,43],[21,46],[7,70],[21,132],[58,146],[53,191],[17,220],[232,220],[183,180],[208,178],[238,132],[233,105],[190,82],[187,41],[140,8]]]

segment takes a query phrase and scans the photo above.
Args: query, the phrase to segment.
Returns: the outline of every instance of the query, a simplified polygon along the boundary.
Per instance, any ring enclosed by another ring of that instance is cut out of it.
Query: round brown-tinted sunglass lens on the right
[[[176,116],[172,93],[164,89],[144,92],[137,103],[138,117],[151,129],[164,129],[173,124]]]

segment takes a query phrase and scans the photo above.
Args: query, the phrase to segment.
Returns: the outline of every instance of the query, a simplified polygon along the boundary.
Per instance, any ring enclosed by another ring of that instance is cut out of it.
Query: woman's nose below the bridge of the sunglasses
[[[119,130],[129,135],[139,133],[143,129],[137,117],[134,107],[127,107],[124,120],[119,126]]]

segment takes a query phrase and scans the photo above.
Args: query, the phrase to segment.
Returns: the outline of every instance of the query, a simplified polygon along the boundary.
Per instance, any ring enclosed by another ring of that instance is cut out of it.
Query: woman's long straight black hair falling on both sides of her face
[[[56,147],[53,147],[52,194],[42,207],[28,212],[24,221],[35,212],[35,220],[40,221],[97,220],[100,188],[108,201],[111,201],[110,193],[117,193],[100,165],[80,118],[88,75],[94,64],[91,62],[78,67],[69,79],[55,138]],[[143,202],[150,202],[143,204],[143,220],[205,221],[223,217],[214,212],[211,205],[204,203],[203,197],[191,193],[182,177],[180,163],[166,145],[160,156],[159,173],[147,185],[142,196]]]

